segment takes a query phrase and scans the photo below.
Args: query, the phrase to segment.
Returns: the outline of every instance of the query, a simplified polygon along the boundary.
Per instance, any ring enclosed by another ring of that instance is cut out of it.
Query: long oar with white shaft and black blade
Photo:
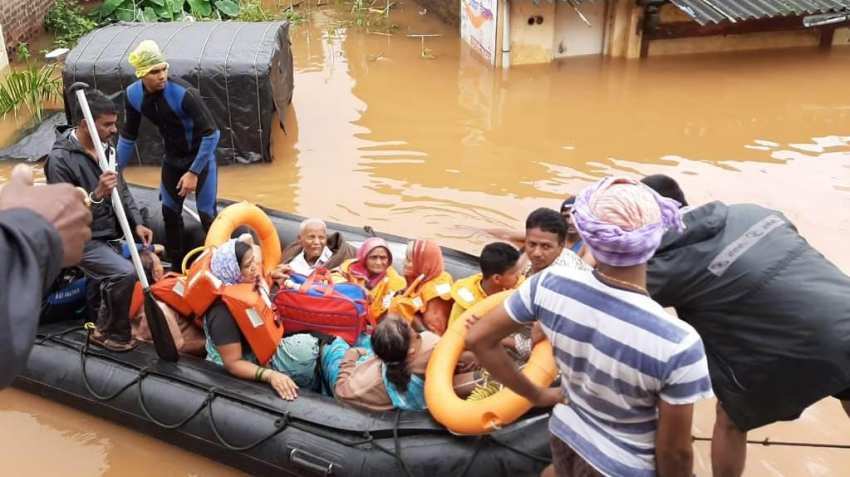
[[[89,85],[78,82],[72,84],[68,91],[75,92],[77,95],[77,101],[80,104],[80,108],[83,110],[83,117],[88,125],[92,144],[95,146],[94,150],[97,154],[97,161],[98,164],[100,164],[100,168],[104,171],[115,170],[114,167],[110,167],[109,162],[107,162],[106,156],[103,153],[103,146],[97,135],[97,126],[94,123],[94,118],[91,115],[89,102],[86,99],[85,94],[85,89],[88,87]],[[121,204],[121,196],[118,193],[117,187],[112,189],[112,208],[115,210],[115,215],[118,216],[118,223],[121,224],[121,230],[124,232],[124,240],[127,241],[127,248],[130,249],[130,258],[133,260],[133,266],[136,268],[136,274],[139,276],[139,282],[142,284],[142,288],[144,289],[145,316],[148,319],[148,327],[151,330],[151,337],[153,338],[156,354],[166,361],[177,361],[180,354],[177,352],[177,347],[174,345],[174,338],[171,336],[171,331],[168,329],[168,322],[165,321],[165,316],[162,314],[162,310],[156,304],[156,300],[151,293],[150,283],[148,283],[147,276],[145,276],[142,261],[139,258],[139,252],[136,250],[136,242],[133,239],[133,232],[130,230],[130,223],[127,222],[127,215],[124,213],[124,205]],[[130,304],[127,303],[127,306],[129,307]]]

